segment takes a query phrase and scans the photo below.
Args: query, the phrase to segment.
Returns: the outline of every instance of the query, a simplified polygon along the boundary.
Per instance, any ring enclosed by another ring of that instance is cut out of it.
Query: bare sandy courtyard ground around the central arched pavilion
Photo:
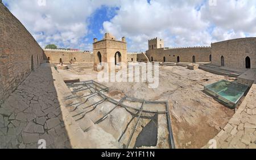
[[[92,64],[72,65],[59,70],[64,80],[97,80]],[[110,92],[121,92],[144,100],[168,100],[176,148],[201,148],[225,127],[234,111],[203,92],[204,85],[228,77],[182,66],[160,66],[159,87],[147,83],[102,83]]]

